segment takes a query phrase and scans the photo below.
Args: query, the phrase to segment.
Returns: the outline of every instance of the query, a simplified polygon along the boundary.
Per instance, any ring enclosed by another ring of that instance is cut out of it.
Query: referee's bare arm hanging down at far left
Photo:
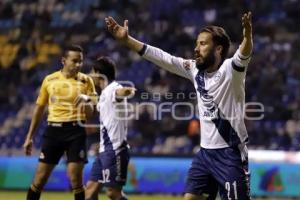
[[[31,155],[31,151],[32,151],[32,139],[36,133],[36,129],[39,126],[42,118],[43,118],[43,114],[44,114],[44,110],[45,110],[45,106],[44,105],[36,105],[33,111],[33,116],[32,116],[32,120],[30,123],[30,127],[29,127],[29,131],[27,133],[25,142],[23,144],[23,148],[24,148],[24,153],[27,156]]]

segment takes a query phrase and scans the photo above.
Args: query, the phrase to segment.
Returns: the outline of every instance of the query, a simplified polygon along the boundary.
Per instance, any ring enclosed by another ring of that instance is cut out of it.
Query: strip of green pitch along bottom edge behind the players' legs
[[[128,195],[130,200],[179,200],[181,196],[163,196],[163,195]],[[24,200],[26,198],[25,191],[1,191],[0,200]],[[73,200],[73,194],[70,192],[44,192],[41,200]],[[108,200],[103,194],[99,195],[99,199]]]

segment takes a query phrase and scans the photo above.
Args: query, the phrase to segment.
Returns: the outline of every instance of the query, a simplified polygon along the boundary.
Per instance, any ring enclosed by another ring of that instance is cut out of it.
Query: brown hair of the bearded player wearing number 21
[[[212,39],[215,45],[221,45],[223,47],[221,58],[225,60],[229,47],[230,47],[230,37],[226,31],[219,26],[206,26],[203,28],[200,33],[207,32],[212,35]]]

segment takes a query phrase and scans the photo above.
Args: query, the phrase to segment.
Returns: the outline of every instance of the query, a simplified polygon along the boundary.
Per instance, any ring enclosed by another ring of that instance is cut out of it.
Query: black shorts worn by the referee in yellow
[[[40,162],[58,164],[66,153],[67,162],[87,163],[85,128],[77,123],[49,124],[44,132]]]

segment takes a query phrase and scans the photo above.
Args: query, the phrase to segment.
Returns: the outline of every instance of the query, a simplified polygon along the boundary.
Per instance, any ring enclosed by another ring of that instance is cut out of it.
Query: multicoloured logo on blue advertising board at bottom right
[[[259,184],[260,189],[266,192],[282,192],[284,186],[278,167],[269,170],[260,170],[261,181]]]

